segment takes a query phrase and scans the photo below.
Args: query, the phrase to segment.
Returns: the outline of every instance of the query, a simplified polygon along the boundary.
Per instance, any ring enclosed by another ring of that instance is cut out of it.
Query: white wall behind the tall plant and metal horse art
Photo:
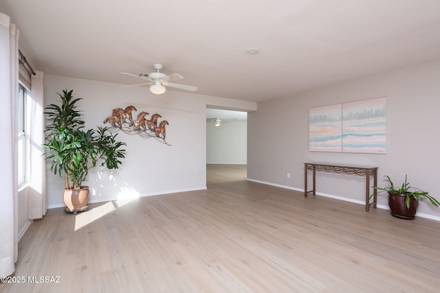
[[[169,123],[166,141],[143,139],[137,134],[118,132],[126,142],[126,157],[119,169],[97,167],[85,182],[91,189],[90,202],[149,196],[206,188],[206,104],[255,110],[256,104],[232,99],[167,91],[153,95],[146,87],[121,88],[120,84],[45,75],[45,106],[58,103],[57,93],[73,89],[82,97],[78,106],[85,115],[86,128],[106,126],[104,119],[113,108],[133,105],[140,111],[159,113]],[[162,121],[159,119],[159,121]],[[50,163],[47,162],[47,168]],[[154,180],[152,180],[154,178]],[[64,180],[47,170],[47,204],[63,207]]]

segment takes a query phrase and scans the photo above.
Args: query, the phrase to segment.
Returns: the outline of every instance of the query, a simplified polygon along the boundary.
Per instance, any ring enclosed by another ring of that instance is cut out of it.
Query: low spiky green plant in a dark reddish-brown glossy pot
[[[427,191],[423,191],[417,187],[411,187],[410,183],[406,181],[406,176],[405,182],[402,183],[400,187],[395,187],[389,176],[384,176],[384,178],[384,181],[390,185],[389,187],[382,188],[374,186],[373,188],[388,192],[388,205],[391,209],[391,215],[394,217],[414,220],[417,207],[419,207],[419,200],[423,200],[423,198],[428,198],[435,207],[440,206],[440,202],[430,196]]]

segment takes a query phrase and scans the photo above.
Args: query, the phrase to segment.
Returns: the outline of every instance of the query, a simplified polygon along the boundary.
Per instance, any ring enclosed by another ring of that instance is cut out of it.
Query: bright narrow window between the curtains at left
[[[26,169],[28,166],[28,135],[26,133],[28,126],[28,115],[26,108],[28,102],[28,95],[30,91],[22,84],[19,84],[19,101],[18,101],[18,113],[17,113],[17,126],[18,126],[18,180],[19,186],[26,183]]]

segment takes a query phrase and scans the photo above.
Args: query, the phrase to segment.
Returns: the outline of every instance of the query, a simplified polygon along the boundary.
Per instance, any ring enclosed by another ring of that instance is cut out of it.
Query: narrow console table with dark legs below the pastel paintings
[[[313,189],[307,190],[307,170],[313,172]],[[339,165],[327,165],[318,163],[304,163],[304,196],[307,198],[307,194],[313,193],[316,195],[316,171],[336,172],[345,174],[356,174],[365,176],[366,188],[365,188],[365,211],[370,210],[370,206],[376,208],[377,205],[377,190],[373,189],[373,202],[370,203],[370,178],[373,176],[374,185],[377,186],[377,167],[354,167],[354,166],[339,166]]]

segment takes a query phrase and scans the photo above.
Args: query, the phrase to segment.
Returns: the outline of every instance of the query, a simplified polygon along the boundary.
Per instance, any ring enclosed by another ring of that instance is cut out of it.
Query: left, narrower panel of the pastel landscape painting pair
[[[342,105],[309,109],[309,150],[342,152]]]

